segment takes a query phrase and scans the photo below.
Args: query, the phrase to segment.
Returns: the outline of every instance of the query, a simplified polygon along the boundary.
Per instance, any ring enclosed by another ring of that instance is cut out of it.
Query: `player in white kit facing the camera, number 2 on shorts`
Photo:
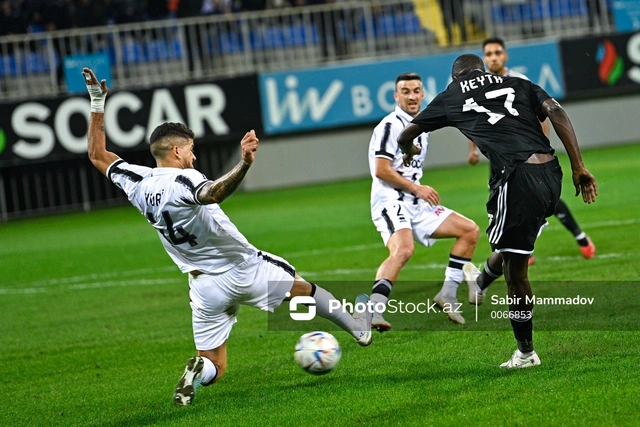
[[[455,323],[464,324],[456,293],[463,280],[462,267],[471,262],[478,242],[478,226],[472,220],[440,205],[440,196],[432,187],[420,184],[428,146],[428,134],[415,140],[422,152],[411,164],[403,164],[397,139],[404,127],[418,115],[424,98],[422,80],[416,73],[396,78],[394,99],[397,106],[376,126],[369,142],[371,218],[389,249],[389,257],[378,268],[371,301],[386,304],[400,270],[413,255],[414,241],[426,247],[438,239],[455,238],[441,291],[434,302]],[[477,292],[469,289],[469,295]],[[376,310],[372,327],[380,332],[391,324]]]

